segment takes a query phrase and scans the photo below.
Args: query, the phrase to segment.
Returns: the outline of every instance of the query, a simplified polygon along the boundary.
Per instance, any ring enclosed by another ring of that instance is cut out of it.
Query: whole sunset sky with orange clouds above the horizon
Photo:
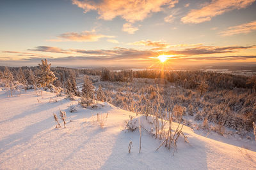
[[[1,0],[0,66],[256,66],[255,1]]]

